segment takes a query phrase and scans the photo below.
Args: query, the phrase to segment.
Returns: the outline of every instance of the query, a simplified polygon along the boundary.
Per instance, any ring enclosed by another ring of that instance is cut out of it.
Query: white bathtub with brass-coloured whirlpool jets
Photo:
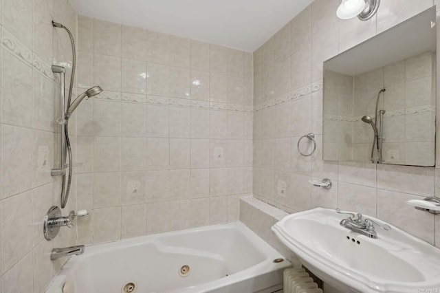
[[[69,281],[75,293],[272,293],[290,266],[274,259],[283,257],[241,222],[192,228],[87,246],[46,292]]]

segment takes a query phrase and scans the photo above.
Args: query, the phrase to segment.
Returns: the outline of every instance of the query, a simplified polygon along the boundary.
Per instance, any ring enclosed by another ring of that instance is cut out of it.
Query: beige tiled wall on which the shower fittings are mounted
[[[67,0],[2,0],[1,10],[1,192],[0,292],[41,293],[63,261],[50,261],[54,247],[76,244],[76,228],[61,228],[54,241],[43,237],[43,217],[60,205],[61,178],[50,169],[56,156],[59,78],[52,64],[72,69],[67,33],[76,38],[76,12]],[[76,118],[72,118],[74,121]],[[75,142],[75,122],[70,129]],[[67,208],[76,209],[73,184]]]

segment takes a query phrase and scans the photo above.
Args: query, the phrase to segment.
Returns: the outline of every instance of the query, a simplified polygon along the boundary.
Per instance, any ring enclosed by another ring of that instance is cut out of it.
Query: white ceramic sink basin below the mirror
[[[432,291],[440,290],[438,248],[391,225],[389,231],[376,226],[371,239],[340,226],[346,218],[314,208],[284,217],[272,231],[309,270],[344,292],[440,292]]]

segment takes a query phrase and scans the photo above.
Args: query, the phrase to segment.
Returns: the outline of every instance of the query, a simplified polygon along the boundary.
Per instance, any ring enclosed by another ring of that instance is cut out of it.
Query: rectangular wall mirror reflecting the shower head
[[[434,166],[435,6],[324,63],[322,159]]]

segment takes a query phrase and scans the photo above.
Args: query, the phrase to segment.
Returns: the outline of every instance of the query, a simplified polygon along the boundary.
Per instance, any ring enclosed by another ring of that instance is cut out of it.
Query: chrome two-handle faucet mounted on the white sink
[[[391,230],[391,227],[387,224],[384,225],[380,225],[377,224],[375,221],[373,221],[372,219],[362,219],[362,214],[358,213],[358,214],[353,214],[353,213],[349,213],[349,212],[341,212],[341,210],[339,208],[336,208],[336,213],[339,214],[347,214],[349,215],[349,217],[347,217],[347,219],[342,219],[339,224],[340,226],[347,228],[349,230],[352,230],[354,232],[358,232],[362,235],[365,235],[367,237],[370,238],[377,238],[377,232],[375,231],[375,224],[377,226],[380,226],[380,228],[384,229],[384,230]]]

